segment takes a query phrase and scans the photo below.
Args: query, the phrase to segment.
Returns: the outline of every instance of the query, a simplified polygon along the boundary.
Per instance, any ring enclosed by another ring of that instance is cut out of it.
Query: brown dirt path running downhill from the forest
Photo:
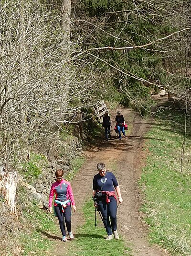
[[[91,148],[85,152],[86,162],[79,174],[71,182],[74,198],[76,201],[77,211],[72,217],[73,232],[75,233],[77,223],[82,220],[81,206],[83,198],[90,198],[92,194],[92,179],[97,173],[96,164],[104,162],[106,169],[113,171],[115,166],[115,175],[123,197],[122,205],[119,205],[117,211],[118,232],[123,236],[124,240],[133,250],[134,256],[165,256],[166,252],[157,246],[150,246],[147,241],[147,227],[143,225],[138,212],[140,198],[138,193],[137,181],[140,176],[140,164],[144,159],[142,151],[145,133],[150,128],[150,124],[130,109],[121,109],[121,113],[125,117],[128,125],[131,125],[131,134],[117,140],[114,138],[115,132],[112,131],[112,140],[101,140],[98,146]],[[111,116],[111,120],[114,120]],[[132,120],[130,124],[128,120]],[[112,122],[113,128],[115,122]],[[112,130],[113,130],[112,128]],[[79,187],[83,187],[83,190]],[[59,235],[60,236],[60,235]],[[54,237],[55,239],[55,237]],[[55,246],[67,247],[60,240],[56,240]],[[55,249],[56,250],[56,249]],[[53,254],[55,255],[55,254]]]

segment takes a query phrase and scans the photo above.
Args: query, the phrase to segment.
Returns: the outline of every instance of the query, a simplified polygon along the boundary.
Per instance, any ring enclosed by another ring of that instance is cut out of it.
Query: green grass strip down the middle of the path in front
[[[106,231],[97,212],[97,226],[95,227],[95,208],[93,200],[87,201],[83,207],[85,223],[78,228],[75,239],[71,243],[68,256],[128,256],[127,248],[123,240],[106,241]]]

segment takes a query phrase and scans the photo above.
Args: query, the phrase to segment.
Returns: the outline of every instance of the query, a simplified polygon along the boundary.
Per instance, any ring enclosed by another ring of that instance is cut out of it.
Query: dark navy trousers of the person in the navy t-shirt
[[[106,233],[111,235],[117,230],[117,201],[114,197],[109,197],[110,203],[106,203],[106,198],[102,201],[98,201],[98,210],[103,217]],[[109,219],[110,218],[110,219]]]

